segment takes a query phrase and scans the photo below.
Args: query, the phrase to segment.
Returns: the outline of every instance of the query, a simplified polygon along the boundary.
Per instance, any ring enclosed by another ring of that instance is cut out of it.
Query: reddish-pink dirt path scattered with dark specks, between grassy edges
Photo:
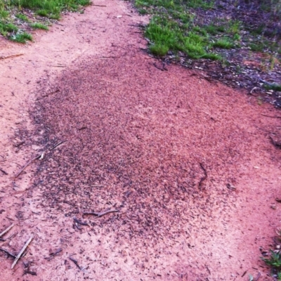
[[[259,247],[280,226],[280,119],[263,115],[280,112],[199,72],[159,70],[141,50],[147,19],[95,4],[30,46],[1,42],[1,55],[23,55],[0,60],[0,230],[16,234],[0,247],[34,235],[14,270],[0,254],[3,280],[271,280]],[[106,209],[118,212],[83,216]]]

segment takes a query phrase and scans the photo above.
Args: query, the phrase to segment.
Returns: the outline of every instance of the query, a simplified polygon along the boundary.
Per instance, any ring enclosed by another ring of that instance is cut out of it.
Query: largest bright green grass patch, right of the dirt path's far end
[[[189,58],[222,60],[216,48],[235,48],[240,41],[240,22],[197,23],[196,13],[190,8],[209,9],[214,3],[206,0],[136,0],[138,11],[152,14],[145,29],[150,41],[150,52],[160,57],[181,51]],[[229,38],[226,39],[226,35]]]

